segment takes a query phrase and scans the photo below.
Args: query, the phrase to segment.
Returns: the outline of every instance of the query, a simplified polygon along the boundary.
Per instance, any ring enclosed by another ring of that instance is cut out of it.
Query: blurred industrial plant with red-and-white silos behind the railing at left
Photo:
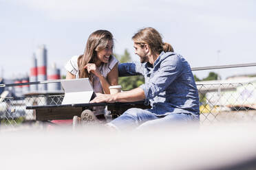
[[[43,82],[45,80],[59,80],[61,79],[61,70],[56,67],[56,64],[50,64],[47,66],[47,49],[45,45],[39,46],[36,49],[36,53],[33,53],[31,58],[30,73],[18,73],[14,75],[12,79],[1,79],[1,84],[19,84],[27,82]],[[2,71],[3,73],[3,71]],[[32,94],[55,94],[63,93],[61,90],[61,83],[49,83],[49,84],[32,84],[23,86],[11,86],[6,88],[0,88],[0,95],[3,90],[8,90],[9,95],[13,97],[21,97],[23,95]]]

